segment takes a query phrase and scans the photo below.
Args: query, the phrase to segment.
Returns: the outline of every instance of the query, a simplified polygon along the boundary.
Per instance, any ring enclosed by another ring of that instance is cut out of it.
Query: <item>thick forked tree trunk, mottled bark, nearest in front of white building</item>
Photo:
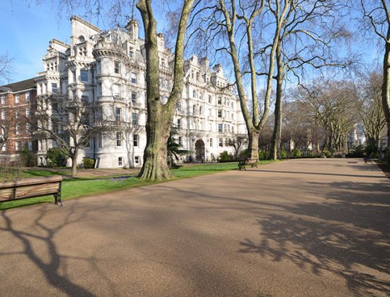
[[[146,52],[147,142],[143,168],[138,177],[142,180],[169,179],[167,140],[171,130],[174,109],[182,98],[184,72],[184,38],[194,0],[184,0],[174,52],[174,83],[167,103],[160,100],[160,67],[157,46],[157,22],[153,16],[152,0],[139,0],[137,8],[143,18]]]

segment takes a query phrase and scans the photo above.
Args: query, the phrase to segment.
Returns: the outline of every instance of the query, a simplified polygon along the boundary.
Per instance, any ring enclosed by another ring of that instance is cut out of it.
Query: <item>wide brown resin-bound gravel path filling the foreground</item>
[[[357,159],[0,212],[0,296],[390,294],[390,180]]]

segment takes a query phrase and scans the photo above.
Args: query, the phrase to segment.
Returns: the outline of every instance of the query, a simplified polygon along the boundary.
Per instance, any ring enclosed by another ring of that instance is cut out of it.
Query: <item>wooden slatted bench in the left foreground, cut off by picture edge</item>
[[[62,206],[62,176],[37,177],[0,183],[0,202],[45,195],[54,195],[54,202]]]

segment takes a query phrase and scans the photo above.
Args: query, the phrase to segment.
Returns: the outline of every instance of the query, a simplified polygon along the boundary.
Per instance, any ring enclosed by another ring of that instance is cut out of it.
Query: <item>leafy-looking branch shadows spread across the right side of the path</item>
[[[325,202],[296,203],[257,218],[260,235],[241,240],[239,252],[287,259],[316,275],[330,271],[357,295],[389,295],[390,183],[331,186]]]

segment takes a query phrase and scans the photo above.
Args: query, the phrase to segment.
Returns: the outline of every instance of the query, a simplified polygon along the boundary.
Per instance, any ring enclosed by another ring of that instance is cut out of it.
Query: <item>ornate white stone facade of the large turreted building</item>
[[[39,96],[52,93],[79,98],[101,106],[104,118],[114,118],[121,128],[112,135],[96,135],[89,147],[79,153],[96,159],[96,167],[140,167],[146,145],[145,48],[138,38],[138,23],[130,21],[126,30],[102,32],[77,16],[71,18],[71,44],[51,40],[43,58],[45,71],[35,82]],[[160,50],[161,100],[172,88],[172,52],[158,35]],[[231,147],[227,138],[245,133],[240,101],[232,94],[221,65],[210,69],[208,59],[196,56],[186,60],[184,91],[174,115],[178,141],[191,155],[183,161],[211,161]],[[38,157],[55,146],[40,140]]]

